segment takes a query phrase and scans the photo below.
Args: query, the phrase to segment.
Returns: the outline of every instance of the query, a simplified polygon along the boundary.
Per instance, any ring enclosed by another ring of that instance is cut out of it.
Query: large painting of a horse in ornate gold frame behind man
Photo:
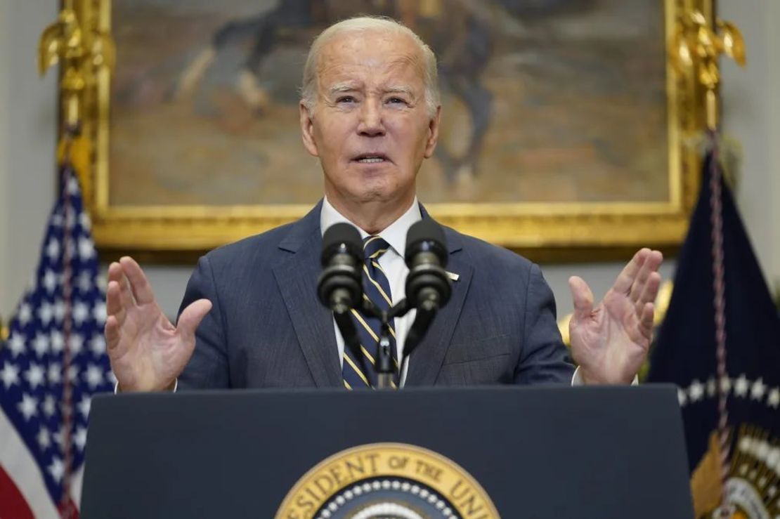
[[[441,139],[418,177],[438,221],[535,259],[673,247],[703,114],[668,47],[711,2],[80,0],[116,45],[83,118],[96,242],[172,258],[303,216],[322,192],[298,126],[307,47],[369,13],[438,55]]]

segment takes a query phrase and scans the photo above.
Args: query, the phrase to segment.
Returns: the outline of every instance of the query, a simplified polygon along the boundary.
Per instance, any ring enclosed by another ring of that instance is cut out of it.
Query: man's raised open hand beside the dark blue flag
[[[569,278],[574,298],[569,337],[584,383],[627,384],[639,372],[650,349],[663,259],[657,250],[636,252],[595,307],[587,283]]]

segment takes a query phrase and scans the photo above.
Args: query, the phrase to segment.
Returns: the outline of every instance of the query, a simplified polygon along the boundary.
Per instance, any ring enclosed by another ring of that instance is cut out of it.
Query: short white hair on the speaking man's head
[[[386,33],[405,34],[411,37],[420,54],[423,56],[423,83],[425,87],[425,104],[428,115],[433,117],[440,104],[438,91],[438,72],[436,70],[436,55],[422,39],[409,27],[399,23],[395,19],[386,16],[358,16],[335,23],[323,30],[314,39],[309,48],[306,65],[303,66],[303,86],[300,89],[303,106],[314,114],[314,105],[317,104],[317,65],[320,62],[322,48],[328,41],[342,34],[362,33],[367,31],[383,31]]]

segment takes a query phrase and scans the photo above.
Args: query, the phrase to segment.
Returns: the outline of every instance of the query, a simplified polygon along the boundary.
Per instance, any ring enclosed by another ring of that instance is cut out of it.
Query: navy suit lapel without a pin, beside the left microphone
[[[293,224],[279,243],[288,256],[273,267],[300,348],[317,387],[342,387],[333,316],[317,298],[321,203]]]

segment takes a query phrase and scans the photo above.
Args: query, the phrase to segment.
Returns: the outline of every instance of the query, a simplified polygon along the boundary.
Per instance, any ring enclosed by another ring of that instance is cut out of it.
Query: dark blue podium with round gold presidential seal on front
[[[423,457],[382,461],[376,443]],[[505,519],[693,517],[670,386],[108,395],[88,446],[85,519],[270,519],[296,483],[278,517],[494,517],[466,502],[468,475]],[[377,477],[381,463],[406,472]]]

